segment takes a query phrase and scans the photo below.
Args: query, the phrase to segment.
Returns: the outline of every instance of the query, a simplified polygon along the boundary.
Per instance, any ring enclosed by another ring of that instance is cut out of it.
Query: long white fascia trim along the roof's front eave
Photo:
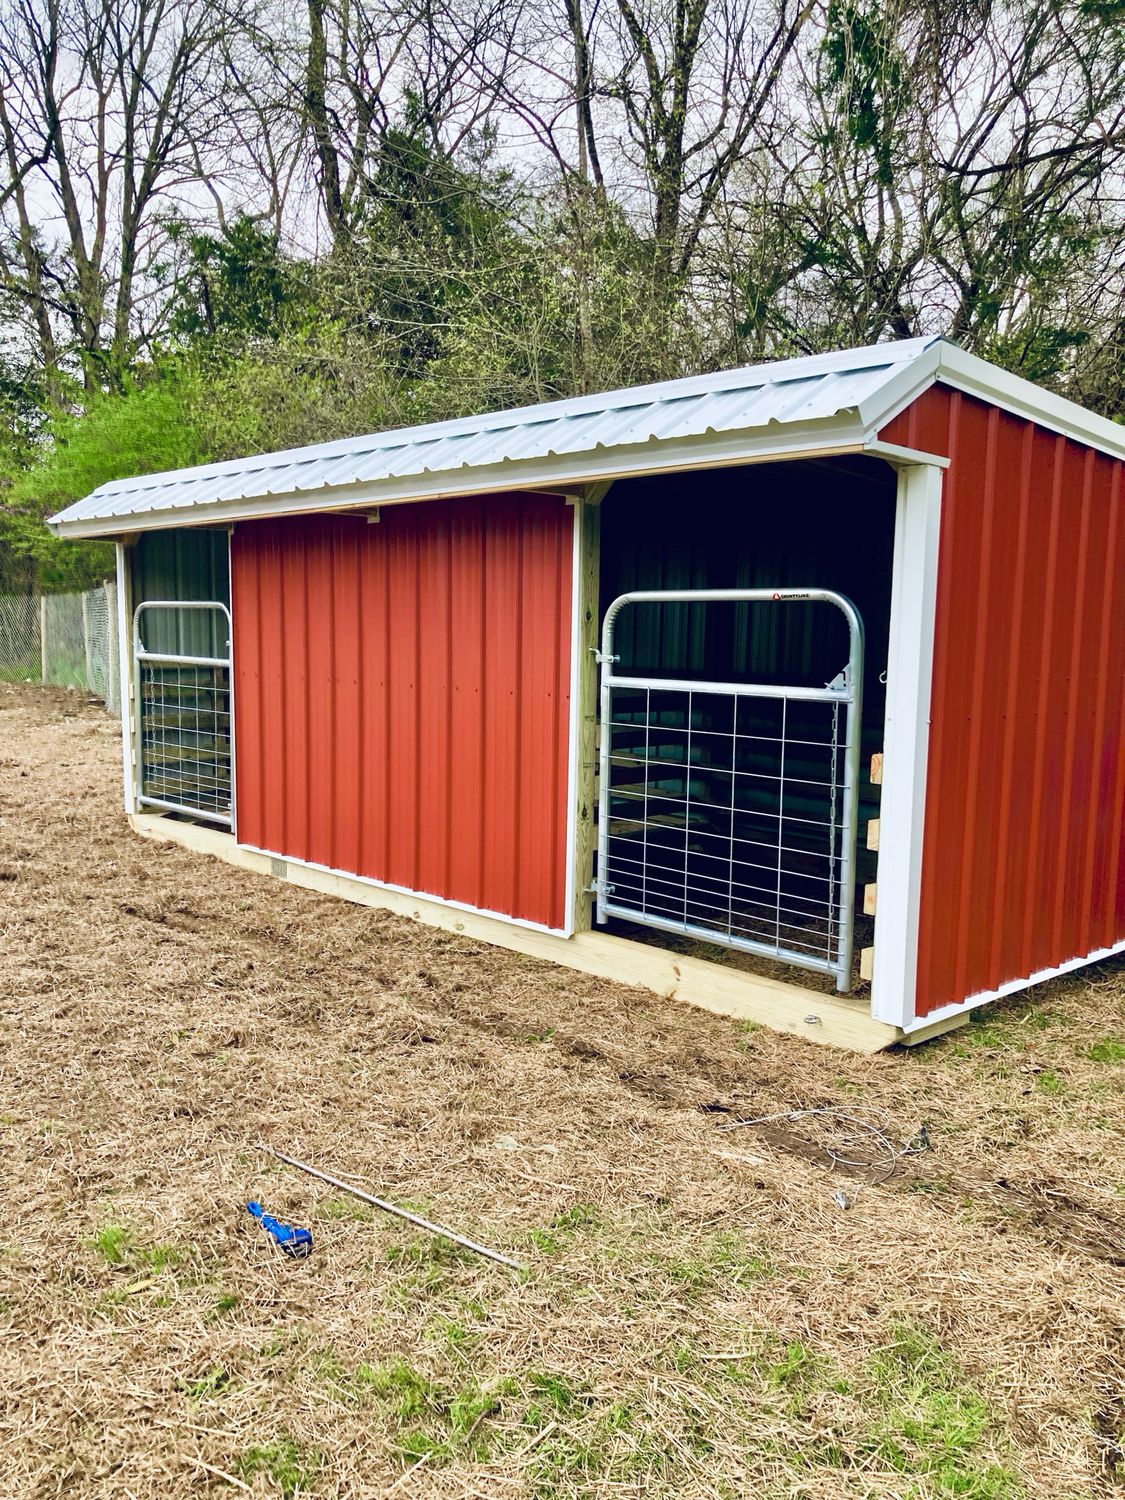
[[[675,442],[638,448],[603,448],[596,453],[564,453],[548,458],[506,460],[484,468],[441,474],[414,474],[338,489],[291,490],[255,495],[166,510],[120,512],[81,520],[48,522],[58,537],[114,537],[123,531],[166,531],[177,526],[224,525],[261,516],[298,516],[364,506],[398,506],[420,500],[456,500],[513,489],[556,489],[560,484],[612,482],[678,470],[729,468],[736,464],[768,464],[772,459],[826,458],[862,453],[867,430],[858,412],[830,422],[794,424],[792,429],[717,436],[702,434]]]

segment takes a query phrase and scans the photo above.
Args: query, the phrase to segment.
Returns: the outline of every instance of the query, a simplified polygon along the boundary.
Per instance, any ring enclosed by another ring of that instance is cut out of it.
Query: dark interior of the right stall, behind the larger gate
[[[858,906],[876,864],[866,846],[867,824],[879,816],[868,765],[884,740],[896,489],[882,460],[842,458],[624,480],[602,502],[602,621],[633,590],[828,588],[856,606]],[[614,642],[621,675],[816,688],[837,678],[848,646],[848,622],[826,603],[630,606]],[[700,928],[752,944],[770,933],[813,966],[838,944],[831,900],[825,915],[822,898],[834,891],[824,878],[825,798],[838,801],[842,765],[831,705],[788,702],[783,720],[777,699],[734,704],[717,694],[694,694],[690,705],[678,693],[615,694],[610,873],[628,904],[666,922],[658,933],[632,922],[621,930],[675,945],[682,916],[696,939]],[[870,924],[860,918],[856,956],[867,940]],[[706,956],[735,957],[729,948]],[[810,982],[759,954],[738,952],[736,962]],[[832,987],[828,975],[824,986]]]

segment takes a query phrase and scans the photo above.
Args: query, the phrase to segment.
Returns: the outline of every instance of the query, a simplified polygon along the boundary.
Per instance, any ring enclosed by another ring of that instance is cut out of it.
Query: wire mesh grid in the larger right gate
[[[614,688],[610,909],[832,968],[843,855],[842,706]]]

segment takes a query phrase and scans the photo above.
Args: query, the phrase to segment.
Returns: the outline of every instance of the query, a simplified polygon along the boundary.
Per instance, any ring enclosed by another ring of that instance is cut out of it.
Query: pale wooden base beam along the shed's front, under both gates
[[[597,930],[562,938],[560,933],[520,927],[501,916],[446,906],[424,896],[392,891],[356,876],[318,870],[292,860],[278,860],[255,849],[240,848],[234,836],[222,828],[177,822],[160,813],[130,813],[129,824],[146,838],[176,843],[195,854],[208,854],[243,870],[280,876],[291,885],[411,916],[430,927],[464,933],[466,938],[544,958],[600,980],[652,990],[666,999],[681,1000],[716,1016],[756,1022],[820,1046],[873,1053],[904,1040],[897,1026],[874,1020],[861,1000],[820,994],[800,984],[766,980],[706,958],[670,952],[651,944],[628,942],[626,938]]]

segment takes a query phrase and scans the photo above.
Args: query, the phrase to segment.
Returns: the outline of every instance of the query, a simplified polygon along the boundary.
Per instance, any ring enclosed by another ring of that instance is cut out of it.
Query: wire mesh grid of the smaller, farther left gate
[[[141,796],[230,819],[230,669],[141,662],[140,675]]]

